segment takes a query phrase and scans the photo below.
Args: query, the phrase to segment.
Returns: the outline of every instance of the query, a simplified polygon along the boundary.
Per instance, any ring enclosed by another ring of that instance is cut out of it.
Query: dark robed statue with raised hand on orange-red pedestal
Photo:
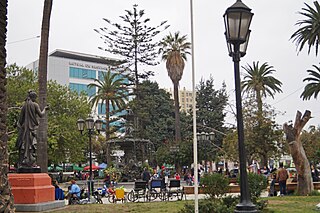
[[[18,138],[16,147],[19,150],[18,167],[34,168],[36,167],[36,150],[37,150],[37,130],[39,127],[38,116],[43,117],[46,106],[43,111],[40,110],[36,103],[37,94],[29,90],[24,105],[21,108],[18,127]]]

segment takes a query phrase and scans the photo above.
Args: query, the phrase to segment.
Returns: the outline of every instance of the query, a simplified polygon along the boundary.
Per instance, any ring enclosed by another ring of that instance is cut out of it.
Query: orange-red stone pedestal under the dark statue
[[[50,209],[50,206],[57,208],[54,186],[52,186],[51,178],[47,173],[9,174],[8,177],[14,203],[18,204],[16,208],[18,206],[22,208],[27,206],[29,210],[31,210],[30,206],[36,207],[35,209],[38,209],[39,206],[48,206],[48,209]],[[52,205],[47,205],[48,203],[52,203]],[[19,211],[21,210],[23,211],[19,208]]]

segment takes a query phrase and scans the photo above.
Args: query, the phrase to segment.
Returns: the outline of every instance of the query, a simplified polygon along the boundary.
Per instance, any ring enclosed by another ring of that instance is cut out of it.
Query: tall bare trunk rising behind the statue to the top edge
[[[43,109],[47,105],[47,63],[48,63],[48,46],[49,46],[49,29],[50,17],[53,0],[45,0],[43,6],[41,43],[39,55],[39,105]],[[39,119],[38,129],[38,149],[37,164],[42,172],[48,171],[48,117],[47,115]]]

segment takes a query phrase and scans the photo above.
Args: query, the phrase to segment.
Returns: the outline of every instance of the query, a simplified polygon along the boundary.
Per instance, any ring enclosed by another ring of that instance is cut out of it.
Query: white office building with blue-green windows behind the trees
[[[55,50],[48,55],[48,80],[56,80],[78,93],[85,91],[88,96],[95,94],[96,89],[88,89],[92,79],[101,78],[103,73],[112,66],[122,64],[123,61],[102,56],[89,55],[67,50]],[[26,67],[38,71],[39,60]],[[96,114],[104,115],[105,107],[99,104]]]

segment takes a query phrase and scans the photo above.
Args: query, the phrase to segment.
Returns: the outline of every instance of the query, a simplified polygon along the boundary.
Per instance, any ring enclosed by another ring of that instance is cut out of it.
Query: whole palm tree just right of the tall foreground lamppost
[[[282,83],[271,76],[275,70],[272,66],[269,66],[267,63],[263,63],[259,66],[259,62],[253,62],[251,67],[249,64],[246,67],[243,67],[246,70],[244,75],[244,80],[242,81],[243,92],[253,92],[255,100],[257,102],[257,140],[260,142],[262,147],[267,146],[267,142],[263,143],[266,140],[265,132],[263,128],[263,110],[262,110],[262,98],[271,96],[274,98],[276,92],[282,92],[280,89]],[[266,152],[267,148],[262,148],[260,153],[261,162],[263,166],[267,166],[268,162],[268,153]]]

